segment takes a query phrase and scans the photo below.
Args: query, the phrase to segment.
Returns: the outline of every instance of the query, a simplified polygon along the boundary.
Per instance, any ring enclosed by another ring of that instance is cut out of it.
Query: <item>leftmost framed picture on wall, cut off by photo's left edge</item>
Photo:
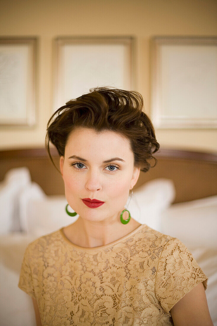
[[[0,38],[0,125],[36,123],[36,38]]]

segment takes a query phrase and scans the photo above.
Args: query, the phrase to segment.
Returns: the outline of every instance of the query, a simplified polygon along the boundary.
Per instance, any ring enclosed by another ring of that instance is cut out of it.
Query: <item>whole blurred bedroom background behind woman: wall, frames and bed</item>
[[[48,120],[97,86],[143,96],[160,151],[140,173],[129,210],[192,252],[208,276],[217,326],[214,0],[0,1],[1,325],[36,325],[18,288],[24,250],[75,221],[45,151]],[[52,145],[51,154],[59,168]]]

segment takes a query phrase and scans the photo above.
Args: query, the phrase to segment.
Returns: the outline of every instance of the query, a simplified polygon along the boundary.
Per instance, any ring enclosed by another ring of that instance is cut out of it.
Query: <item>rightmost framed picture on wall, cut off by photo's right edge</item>
[[[217,37],[153,37],[151,118],[157,128],[217,128]]]

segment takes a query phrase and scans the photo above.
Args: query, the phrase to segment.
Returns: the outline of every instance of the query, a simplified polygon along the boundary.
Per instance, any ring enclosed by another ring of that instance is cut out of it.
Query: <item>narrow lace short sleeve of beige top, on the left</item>
[[[31,297],[36,298],[29,258],[30,258],[30,254],[29,254],[29,245],[28,245],[25,249],[23,259],[22,259],[18,287],[21,290],[25,291],[27,294],[29,294]]]

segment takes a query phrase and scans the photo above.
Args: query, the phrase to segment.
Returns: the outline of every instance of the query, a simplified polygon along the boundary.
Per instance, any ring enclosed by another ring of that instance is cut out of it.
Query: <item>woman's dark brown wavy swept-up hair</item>
[[[142,109],[140,93],[117,88],[95,87],[90,89],[90,93],[69,100],[53,113],[47,124],[45,147],[52,163],[49,141],[60,156],[65,156],[70,133],[76,127],[85,127],[98,134],[109,130],[127,138],[134,153],[134,166],[147,172],[151,167],[147,160],[153,158],[156,165],[157,159],[152,153],[159,150],[160,145],[156,141],[152,122]]]

